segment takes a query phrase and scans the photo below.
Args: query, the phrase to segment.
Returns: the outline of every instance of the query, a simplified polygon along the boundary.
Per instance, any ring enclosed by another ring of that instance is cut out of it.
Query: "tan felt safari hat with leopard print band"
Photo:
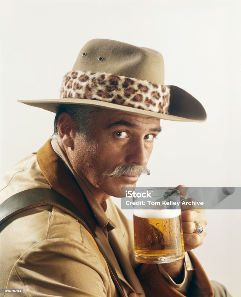
[[[93,39],[65,74],[60,99],[19,100],[56,112],[60,104],[123,110],[173,121],[203,122],[201,103],[183,89],[164,84],[164,61],[156,50]]]

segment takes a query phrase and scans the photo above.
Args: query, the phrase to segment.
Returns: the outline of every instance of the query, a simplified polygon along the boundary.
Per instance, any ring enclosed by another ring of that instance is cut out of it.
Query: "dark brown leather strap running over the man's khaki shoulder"
[[[61,208],[72,217],[77,219],[80,224],[82,224],[84,228],[87,229],[87,231],[94,238],[101,254],[107,262],[110,275],[120,293],[120,296],[126,297],[120,279],[109,256],[107,255],[107,252],[101,244],[101,241],[99,240],[89,223],[83,218],[82,214],[73,205],[73,203],[55,190],[48,188],[35,188],[12,195],[0,205],[0,225],[7,219],[14,216],[15,214],[18,214],[21,211],[42,205],[54,205]]]

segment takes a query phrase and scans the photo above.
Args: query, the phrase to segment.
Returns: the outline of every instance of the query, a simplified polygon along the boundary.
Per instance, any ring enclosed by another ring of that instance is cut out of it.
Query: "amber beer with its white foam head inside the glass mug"
[[[134,210],[135,258],[142,263],[168,263],[184,257],[181,210]]]

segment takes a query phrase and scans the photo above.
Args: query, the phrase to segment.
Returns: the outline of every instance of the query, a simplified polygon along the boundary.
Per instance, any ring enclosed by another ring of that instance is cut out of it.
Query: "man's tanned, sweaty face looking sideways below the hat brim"
[[[121,197],[121,187],[134,187],[140,173],[106,174],[119,165],[146,166],[153,140],[160,132],[160,120],[101,109],[93,116],[91,129],[90,143],[74,138],[71,164],[98,190]]]

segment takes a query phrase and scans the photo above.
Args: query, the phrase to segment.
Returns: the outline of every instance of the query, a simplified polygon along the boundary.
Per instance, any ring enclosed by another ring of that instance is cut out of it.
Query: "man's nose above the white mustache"
[[[126,161],[132,165],[146,165],[148,162],[148,150],[144,140],[134,140],[128,147]]]

